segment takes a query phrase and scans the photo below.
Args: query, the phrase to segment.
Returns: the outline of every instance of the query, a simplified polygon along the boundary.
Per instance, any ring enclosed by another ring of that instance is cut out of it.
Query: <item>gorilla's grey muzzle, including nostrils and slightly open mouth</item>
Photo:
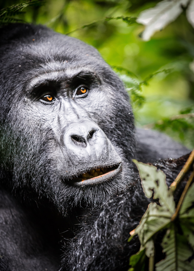
[[[120,156],[102,129],[90,120],[66,125],[60,145],[74,168],[73,175],[65,178],[68,183],[101,183],[121,171]]]

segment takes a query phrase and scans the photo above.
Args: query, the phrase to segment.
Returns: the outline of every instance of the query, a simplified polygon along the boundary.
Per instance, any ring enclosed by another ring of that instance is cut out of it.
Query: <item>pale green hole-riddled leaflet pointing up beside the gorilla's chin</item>
[[[151,198],[152,191],[154,190],[154,199],[159,198],[161,206],[170,211],[171,214],[175,211],[175,203],[173,199],[172,191],[168,190],[166,184],[166,176],[161,170],[157,170],[157,167],[143,164],[133,159],[136,164],[139,175],[142,180],[142,187],[147,198]]]

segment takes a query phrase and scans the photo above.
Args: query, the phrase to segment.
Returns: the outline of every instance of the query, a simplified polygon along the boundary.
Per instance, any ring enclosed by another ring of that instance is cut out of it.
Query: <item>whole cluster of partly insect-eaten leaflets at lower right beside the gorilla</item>
[[[172,221],[175,212],[173,195],[165,183],[165,175],[156,167],[136,163],[145,195],[158,198],[160,205],[150,203],[140,224],[133,234],[138,234],[141,248],[154,261],[154,240],[161,230],[167,229],[161,246],[165,259],[155,265],[156,271],[193,271],[194,270],[194,184],[189,188],[184,198],[179,219]],[[142,253],[142,252],[141,252]],[[157,251],[156,251],[157,253]],[[137,255],[139,255],[137,253]],[[134,258],[137,260],[137,256]],[[136,266],[136,265],[135,265]],[[134,271],[137,271],[135,267]],[[132,269],[130,271],[133,271]]]

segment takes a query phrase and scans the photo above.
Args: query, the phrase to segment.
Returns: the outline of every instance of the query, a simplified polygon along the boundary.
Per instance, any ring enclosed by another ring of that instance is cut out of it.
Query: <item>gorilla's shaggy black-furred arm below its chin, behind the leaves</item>
[[[153,165],[166,174],[166,182],[170,186],[188,157],[185,155],[179,159],[159,160]],[[179,191],[183,190],[184,185],[185,182]],[[180,197],[179,191],[175,195],[176,199]],[[133,186],[114,195],[101,208],[87,216],[82,229],[69,245],[69,253],[63,261],[64,267],[76,271],[127,271],[130,256],[140,248],[137,235],[127,242],[129,233],[139,224],[149,202],[137,176]],[[161,257],[156,255],[156,261],[161,260]]]

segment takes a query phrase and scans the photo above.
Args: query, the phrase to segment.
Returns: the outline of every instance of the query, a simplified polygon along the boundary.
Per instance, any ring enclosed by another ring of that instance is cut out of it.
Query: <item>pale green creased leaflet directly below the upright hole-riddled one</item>
[[[171,221],[171,215],[170,211],[157,205],[155,202],[149,204],[140,224],[135,229],[135,234],[138,234],[143,247],[154,234],[168,226]]]

